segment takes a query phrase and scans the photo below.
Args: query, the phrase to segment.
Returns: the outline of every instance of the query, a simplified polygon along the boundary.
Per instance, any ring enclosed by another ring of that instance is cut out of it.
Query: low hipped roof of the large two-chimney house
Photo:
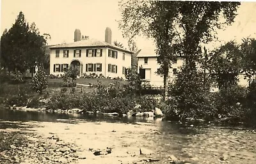
[[[77,48],[77,47],[109,47],[114,48],[116,50],[121,50],[124,52],[128,52],[130,54],[133,54],[133,52],[129,50],[125,50],[124,48],[120,48],[115,45],[111,45],[110,43],[107,43],[105,41],[99,41],[95,39],[87,39],[87,40],[81,40],[81,41],[74,41],[72,43],[63,43],[60,45],[54,45],[49,48]]]

